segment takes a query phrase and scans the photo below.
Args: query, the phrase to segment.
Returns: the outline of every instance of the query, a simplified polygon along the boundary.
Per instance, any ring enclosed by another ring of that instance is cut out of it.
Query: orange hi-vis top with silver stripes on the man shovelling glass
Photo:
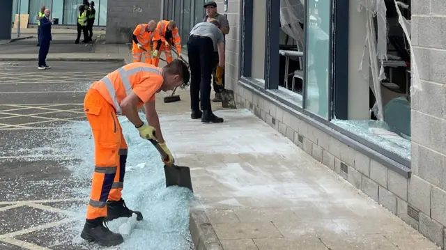
[[[129,63],[96,81],[91,88],[96,89],[114,107],[116,114],[122,114],[120,104],[132,91],[142,101],[137,105],[138,108],[148,101],[155,100],[155,93],[164,82],[162,74],[162,68],[154,65]]]

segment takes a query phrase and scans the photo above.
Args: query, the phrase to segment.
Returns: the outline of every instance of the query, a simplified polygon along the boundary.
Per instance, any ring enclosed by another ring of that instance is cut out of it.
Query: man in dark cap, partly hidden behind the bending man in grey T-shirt
[[[228,19],[222,14],[217,13],[217,3],[215,1],[208,1],[204,3],[204,8],[206,8],[206,17],[204,17],[203,22],[209,22],[212,19],[216,19],[220,24],[220,30],[222,30],[223,35],[227,35],[229,33],[229,22]],[[215,73],[217,71],[217,63],[218,63],[218,52],[214,52],[215,58],[215,68],[213,69],[213,88],[215,91],[215,98],[213,102],[222,102],[222,96],[220,94],[221,91],[224,90],[224,72],[222,83],[223,85],[218,85],[215,81]]]

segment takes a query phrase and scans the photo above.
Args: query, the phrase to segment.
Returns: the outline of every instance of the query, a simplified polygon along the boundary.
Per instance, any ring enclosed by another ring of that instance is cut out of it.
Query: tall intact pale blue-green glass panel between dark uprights
[[[330,0],[307,1],[306,109],[328,118]]]

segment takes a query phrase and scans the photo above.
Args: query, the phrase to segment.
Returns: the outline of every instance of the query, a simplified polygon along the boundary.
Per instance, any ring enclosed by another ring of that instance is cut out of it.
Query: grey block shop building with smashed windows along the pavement
[[[168,2],[185,44],[202,4]],[[216,2],[238,107],[444,249],[446,2]]]

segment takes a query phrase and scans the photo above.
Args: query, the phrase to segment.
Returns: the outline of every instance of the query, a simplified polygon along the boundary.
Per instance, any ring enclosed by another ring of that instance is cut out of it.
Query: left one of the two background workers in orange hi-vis
[[[156,22],[151,20],[147,24],[138,24],[134,29],[132,39],[132,54],[134,63],[141,61],[143,53],[146,63],[152,63],[151,42],[155,28]]]

